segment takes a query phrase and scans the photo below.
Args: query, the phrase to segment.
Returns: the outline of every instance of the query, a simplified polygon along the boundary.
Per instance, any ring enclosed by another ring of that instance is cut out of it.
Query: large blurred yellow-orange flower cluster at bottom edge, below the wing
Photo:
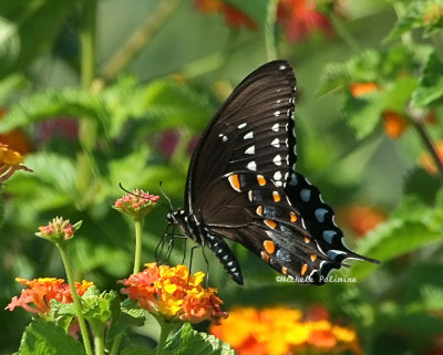
[[[323,314],[328,316],[328,314]],[[361,354],[356,332],[329,320],[311,321],[300,310],[288,307],[235,309],[210,333],[230,344],[238,355],[287,355],[300,351],[350,349]]]

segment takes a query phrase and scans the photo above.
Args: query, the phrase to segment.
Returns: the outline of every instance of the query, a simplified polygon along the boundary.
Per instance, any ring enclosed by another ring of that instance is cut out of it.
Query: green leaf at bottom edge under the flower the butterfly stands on
[[[171,336],[162,354],[174,355],[235,355],[234,349],[214,335],[198,333],[189,323],[185,323]]]

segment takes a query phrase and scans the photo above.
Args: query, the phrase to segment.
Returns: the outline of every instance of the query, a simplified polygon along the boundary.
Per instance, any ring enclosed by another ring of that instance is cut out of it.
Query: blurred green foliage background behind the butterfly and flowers
[[[119,182],[159,195],[163,181],[181,207],[198,135],[235,85],[269,60],[271,35],[300,88],[298,169],[334,207],[347,243],[382,265],[342,271],[358,283],[302,288],[276,283],[270,268],[233,244],[245,286],[212,255],[210,283],[227,309],[323,304],[358,330],[367,354],[442,354],[442,180],[425,169],[427,148],[418,128],[442,139],[441,1],[420,2],[437,7],[436,18],[415,21],[390,41],[399,17],[416,14],[413,1],[317,1],[321,21],[302,12],[309,1],[298,1],[290,20],[310,24],[296,39],[288,39],[288,22],[269,22],[268,0],[228,3],[255,25],[233,25],[223,11],[204,11],[205,1],[0,3],[0,143],[24,154],[34,170],[17,173],[2,188],[1,304],[20,292],[16,276],[64,276],[53,247],[33,237],[55,216],[83,220],[72,250],[78,278],[119,289],[115,280],[132,270],[134,246],[131,222],[111,209],[123,194]],[[140,36],[131,41],[134,33]],[[435,83],[425,81],[424,69]],[[368,82],[380,93],[352,97],[351,85]],[[418,101],[423,85],[436,87],[432,101]],[[414,94],[419,103],[411,111]],[[383,121],[393,109],[406,125],[399,139],[388,137]],[[432,123],[416,125],[418,116]],[[158,207],[147,217],[146,262],[154,260],[166,213]],[[182,257],[178,241],[171,263]],[[194,270],[206,270],[200,252],[194,262]],[[30,316],[3,311],[0,320],[0,349],[12,353]]]

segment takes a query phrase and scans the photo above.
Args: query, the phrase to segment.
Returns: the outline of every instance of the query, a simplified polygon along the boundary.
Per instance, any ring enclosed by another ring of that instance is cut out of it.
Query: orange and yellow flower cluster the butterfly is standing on
[[[144,271],[120,281],[125,285],[121,292],[137,301],[142,309],[168,321],[198,323],[227,317],[220,307],[223,301],[216,296],[217,289],[202,286],[205,273],[192,275],[186,265],[169,268],[153,262],[145,267]]]

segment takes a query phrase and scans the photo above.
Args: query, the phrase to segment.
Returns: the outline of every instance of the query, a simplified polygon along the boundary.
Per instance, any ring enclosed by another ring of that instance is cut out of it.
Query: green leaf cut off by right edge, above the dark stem
[[[431,52],[420,77],[419,87],[413,92],[411,105],[424,107],[443,96],[443,63]]]

